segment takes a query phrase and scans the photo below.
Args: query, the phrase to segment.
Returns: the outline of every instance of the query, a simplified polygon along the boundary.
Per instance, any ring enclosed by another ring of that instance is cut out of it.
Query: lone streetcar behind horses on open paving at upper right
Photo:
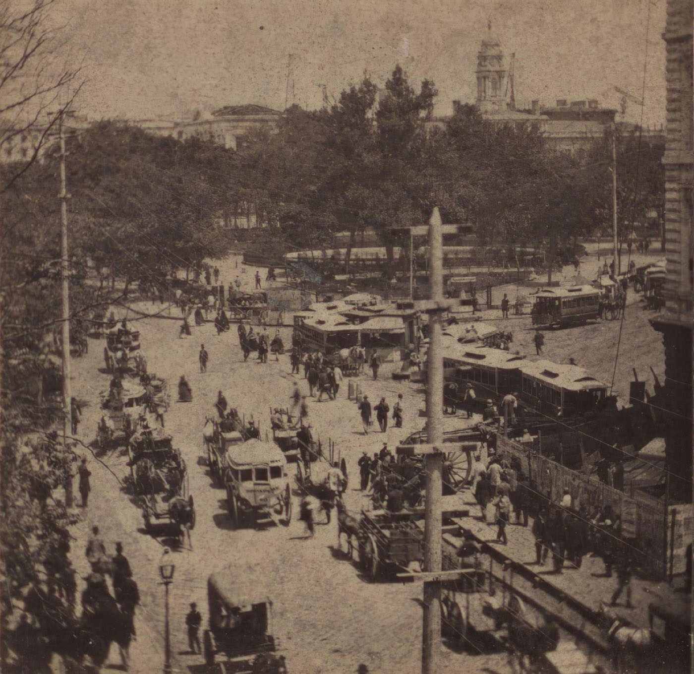
[[[532,297],[534,326],[573,326],[598,318],[600,291],[591,285],[539,289]]]

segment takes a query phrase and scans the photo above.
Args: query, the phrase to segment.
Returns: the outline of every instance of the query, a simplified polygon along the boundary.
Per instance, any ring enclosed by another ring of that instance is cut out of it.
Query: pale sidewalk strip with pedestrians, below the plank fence
[[[544,566],[535,564],[535,539],[532,535],[533,519],[530,518],[527,528],[514,524],[507,525],[506,532],[509,542],[507,545],[497,544],[496,525],[490,525],[482,521],[480,516],[480,506],[477,505],[471,491],[466,489],[462,492],[463,500],[470,506],[471,516],[460,518],[459,523],[464,528],[470,530],[477,539],[489,545],[494,550],[506,555],[514,562],[523,564],[532,572],[539,575],[543,582],[547,582],[566,595],[583,603],[593,611],[597,611],[600,602],[609,603],[612,593],[617,588],[616,573],[613,572],[612,578],[604,575],[604,563],[600,557],[586,555],[583,558],[581,568],[575,568],[573,564],[565,562],[562,573],[553,573],[551,558]],[[652,602],[665,603],[672,607],[686,605],[689,603],[690,595],[682,591],[675,590],[670,584],[662,581],[643,580],[633,577],[632,584],[632,605],[634,608],[627,609],[626,591],[618,600],[618,605],[613,607],[613,612],[618,616],[626,618],[638,627],[648,627],[648,605]]]

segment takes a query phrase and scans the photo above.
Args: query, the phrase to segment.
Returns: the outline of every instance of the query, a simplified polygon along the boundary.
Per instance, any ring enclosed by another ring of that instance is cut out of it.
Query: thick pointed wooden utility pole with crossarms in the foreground
[[[427,443],[435,448],[424,457],[426,475],[424,519],[424,571],[441,571],[441,487],[443,455],[443,353],[441,311],[443,307],[443,248],[441,215],[434,208],[429,220],[429,354],[427,357]],[[424,583],[422,625],[422,674],[437,674],[441,654],[441,583]]]

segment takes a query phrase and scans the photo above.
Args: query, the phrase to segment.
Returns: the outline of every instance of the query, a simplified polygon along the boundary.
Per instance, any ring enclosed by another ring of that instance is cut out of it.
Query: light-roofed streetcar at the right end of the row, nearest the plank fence
[[[570,417],[598,410],[607,398],[607,385],[577,365],[549,360],[520,365],[521,401],[541,414]]]

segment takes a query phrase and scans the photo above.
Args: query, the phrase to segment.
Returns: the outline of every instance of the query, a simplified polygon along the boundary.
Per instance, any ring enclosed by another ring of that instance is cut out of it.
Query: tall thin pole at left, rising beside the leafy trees
[[[70,260],[67,253],[67,185],[65,181],[64,112],[60,113],[60,276],[62,280],[62,441],[67,449],[67,436],[72,433],[72,395],[70,390]],[[65,482],[65,506],[72,507],[72,477]]]

